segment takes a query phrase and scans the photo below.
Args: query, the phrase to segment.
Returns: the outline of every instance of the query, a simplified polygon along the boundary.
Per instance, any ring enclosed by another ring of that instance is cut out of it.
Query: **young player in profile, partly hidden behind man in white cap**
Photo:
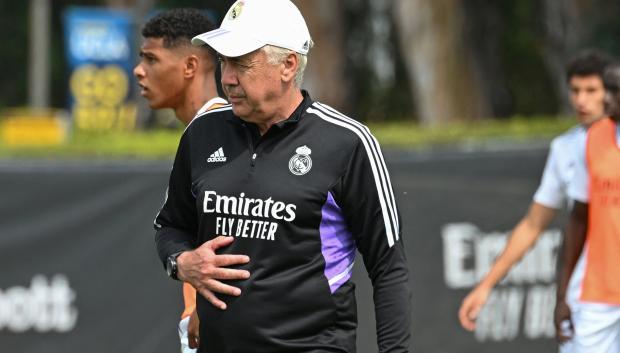
[[[134,68],[141,95],[152,109],[171,108],[185,125],[227,102],[218,97],[214,52],[195,47],[191,39],[215,25],[195,9],[173,9],[149,20],[142,28],[140,63]],[[198,347],[196,291],[183,284],[185,310],[179,323],[183,352]],[[189,332],[188,332],[189,331]]]

